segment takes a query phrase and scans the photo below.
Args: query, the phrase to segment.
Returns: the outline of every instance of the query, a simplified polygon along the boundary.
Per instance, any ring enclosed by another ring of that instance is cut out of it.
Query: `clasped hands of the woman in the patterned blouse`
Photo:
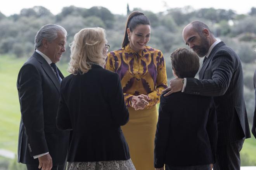
[[[144,94],[133,96],[131,99],[131,107],[133,107],[135,110],[144,109],[147,105],[149,105],[149,100],[151,100],[150,97]]]

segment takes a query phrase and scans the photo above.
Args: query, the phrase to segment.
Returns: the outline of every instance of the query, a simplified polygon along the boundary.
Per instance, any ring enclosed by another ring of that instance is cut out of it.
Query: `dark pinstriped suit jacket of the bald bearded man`
[[[233,49],[219,42],[199,72],[187,78],[185,93],[213,96],[218,120],[218,145],[250,138],[244,102],[242,65]]]

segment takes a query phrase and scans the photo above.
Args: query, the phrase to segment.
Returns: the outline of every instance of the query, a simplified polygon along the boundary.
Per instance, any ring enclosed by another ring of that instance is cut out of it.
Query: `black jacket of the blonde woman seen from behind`
[[[120,128],[128,120],[118,74],[92,65],[62,80],[57,127],[73,130],[68,162],[130,159]]]

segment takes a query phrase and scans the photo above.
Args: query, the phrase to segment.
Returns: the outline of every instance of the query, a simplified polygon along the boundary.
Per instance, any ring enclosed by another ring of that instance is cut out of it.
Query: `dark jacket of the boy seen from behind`
[[[161,96],[154,166],[192,166],[215,162],[217,118],[212,97],[182,92]]]

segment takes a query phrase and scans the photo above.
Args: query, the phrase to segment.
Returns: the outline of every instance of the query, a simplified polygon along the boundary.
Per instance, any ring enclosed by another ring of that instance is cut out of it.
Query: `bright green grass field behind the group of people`
[[[0,56],[0,149],[15,153],[17,153],[21,117],[16,81],[19,69],[25,61],[26,58],[17,59],[14,56]],[[58,67],[65,76],[69,75],[66,71],[67,64],[58,64]],[[251,162],[246,163],[246,165],[256,166],[256,139],[246,139],[241,155],[246,156],[246,158],[242,158],[242,161],[249,159],[248,161]]]

